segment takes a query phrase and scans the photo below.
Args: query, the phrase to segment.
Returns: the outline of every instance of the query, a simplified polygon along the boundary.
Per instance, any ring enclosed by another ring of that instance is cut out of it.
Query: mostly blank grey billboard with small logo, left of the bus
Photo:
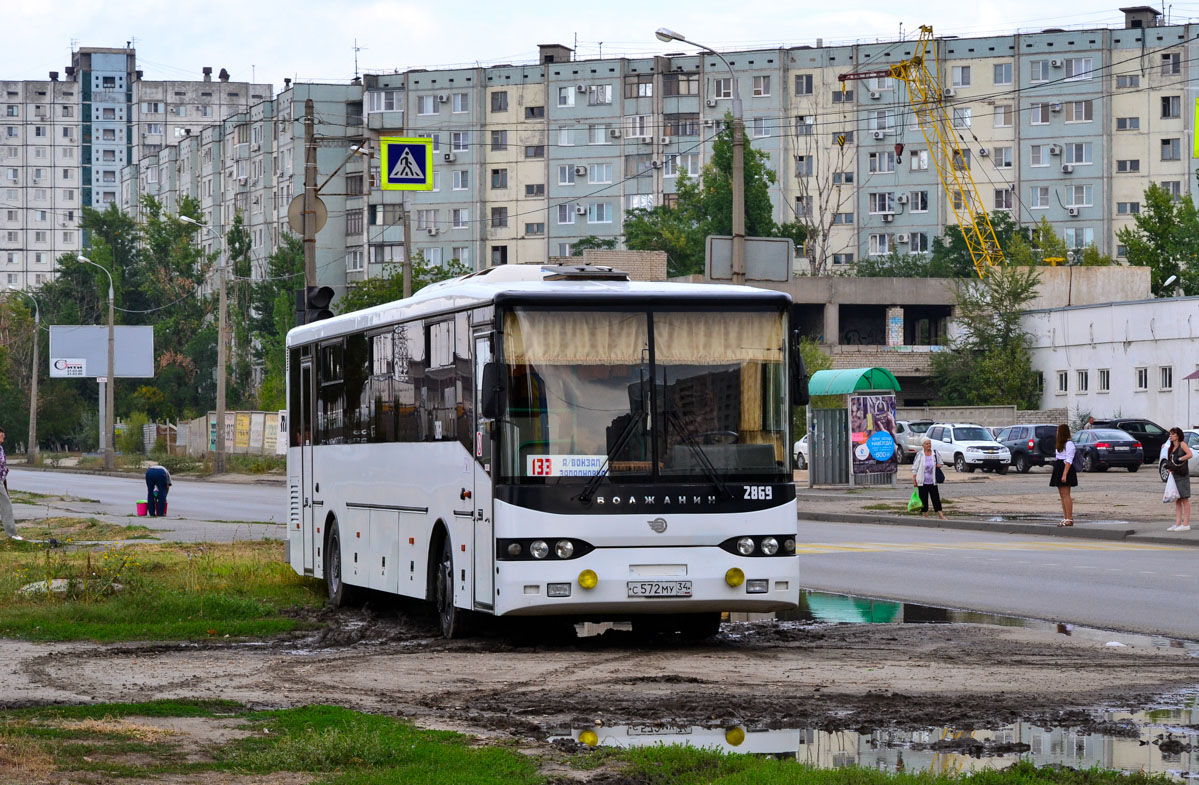
[[[118,379],[153,376],[153,327],[118,325],[113,330]],[[95,379],[108,374],[108,327],[50,325],[50,376]]]

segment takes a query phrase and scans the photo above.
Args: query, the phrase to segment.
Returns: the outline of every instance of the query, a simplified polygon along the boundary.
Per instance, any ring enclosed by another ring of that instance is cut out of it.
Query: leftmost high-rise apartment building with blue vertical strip
[[[144,81],[137,53],[80,48],[60,79],[0,80],[0,285],[34,288],[86,237],[82,207],[116,203],[131,162],[271,97],[269,84]]]

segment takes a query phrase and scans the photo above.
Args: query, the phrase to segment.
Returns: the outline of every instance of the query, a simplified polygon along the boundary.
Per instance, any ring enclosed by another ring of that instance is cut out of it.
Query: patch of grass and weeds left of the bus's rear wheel
[[[54,578],[65,594],[18,593]],[[118,590],[118,586],[120,587]],[[127,544],[102,551],[0,543],[0,636],[40,641],[261,638],[302,628],[320,581],[283,562],[283,544]]]

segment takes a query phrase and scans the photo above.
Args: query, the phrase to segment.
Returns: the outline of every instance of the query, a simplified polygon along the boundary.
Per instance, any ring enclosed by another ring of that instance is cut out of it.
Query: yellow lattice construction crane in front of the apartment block
[[[930,64],[929,49],[932,49]],[[916,42],[911,58],[902,60],[890,68],[855,71],[843,73],[838,78],[842,83],[842,90],[845,89],[846,81],[858,79],[892,78],[908,85],[908,102],[920,121],[920,132],[924,135],[924,141],[928,143],[928,155],[936,165],[941,187],[950,199],[954,216],[957,216],[958,227],[966,241],[966,248],[970,249],[975,270],[982,278],[990,267],[1004,262],[1004,253],[999,248],[999,240],[995,238],[995,229],[990,225],[990,218],[983,210],[978,187],[970,175],[969,158],[962,145],[964,140],[953,126],[952,107],[947,107],[945,103],[946,91],[941,89],[939,74],[940,66],[936,61],[933,28],[921,25],[920,40]],[[896,150],[902,151],[903,145],[897,144]],[[977,213],[975,209],[978,210]]]

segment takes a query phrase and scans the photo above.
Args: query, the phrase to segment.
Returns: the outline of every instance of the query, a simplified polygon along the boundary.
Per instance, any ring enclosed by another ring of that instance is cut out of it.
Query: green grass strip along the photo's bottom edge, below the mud
[[[207,742],[164,731],[149,718],[211,718],[239,737]],[[565,760],[564,760],[565,759]],[[637,785],[1169,785],[1164,774],[1073,771],[1031,763],[971,774],[892,774],[873,768],[817,769],[794,760],[683,747],[548,747],[522,754],[506,741],[480,741],[415,727],[394,717],[333,706],[254,712],[229,701],[151,701],[0,712],[0,772],[13,781],[109,781],[209,772],[266,778],[303,772],[319,785],[548,785],[546,762],[601,781]],[[95,780],[95,777],[104,778]]]

